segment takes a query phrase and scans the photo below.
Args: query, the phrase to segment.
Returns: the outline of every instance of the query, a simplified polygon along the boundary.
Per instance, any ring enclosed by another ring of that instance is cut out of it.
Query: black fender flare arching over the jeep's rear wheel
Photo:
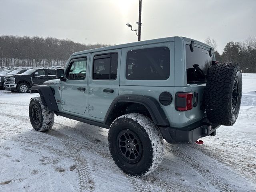
[[[133,95],[133,94],[125,94],[125,95],[117,96],[111,103],[110,107],[108,108],[103,124],[108,123],[108,120],[115,108],[115,105],[118,102],[133,102],[133,103],[142,104],[147,108],[148,112],[150,113],[150,116],[152,117],[154,124],[158,126],[170,125],[170,123],[166,118],[164,110],[162,109],[159,102],[155,98],[151,96],[142,96],[142,95]]]

